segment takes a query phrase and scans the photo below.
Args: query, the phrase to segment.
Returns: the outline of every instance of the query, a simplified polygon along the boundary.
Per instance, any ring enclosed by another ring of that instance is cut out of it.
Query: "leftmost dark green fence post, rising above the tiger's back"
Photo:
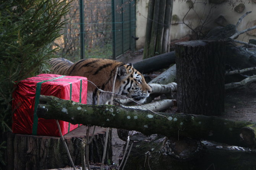
[[[80,16],[80,57],[84,59],[84,0],[79,0]]]

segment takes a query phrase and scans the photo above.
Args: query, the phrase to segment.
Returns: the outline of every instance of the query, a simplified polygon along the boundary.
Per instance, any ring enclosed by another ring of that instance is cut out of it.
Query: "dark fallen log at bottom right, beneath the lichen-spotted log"
[[[131,136],[131,143],[133,148],[125,170],[254,170],[256,167],[256,150],[246,148],[232,149],[222,144],[191,139],[169,138],[166,141],[164,136],[147,137],[141,134]],[[172,155],[169,154],[170,149]],[[149,155],[146,157],[145,154],[148,152],[151,154],[149,160]],[[184,156],[189,157],[183,159]]]

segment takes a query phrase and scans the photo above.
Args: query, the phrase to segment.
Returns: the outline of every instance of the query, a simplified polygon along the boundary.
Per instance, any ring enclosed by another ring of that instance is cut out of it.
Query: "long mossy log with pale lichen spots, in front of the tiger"
[[[256,146],[255,130],[248,128],[246,133],[242,131],[243,128],[255,125],[251,122],[231,121],[204,115],[174,113],[160,115],[120,106],[85,105],[53,96],[41,96],[40,101],[44,104],[39,104],[37,115],[44,119],[136,130],[145,135],[160,134],[167,137],[212,140],[237,146]],[[251,140],[244,140],[245,138]]]

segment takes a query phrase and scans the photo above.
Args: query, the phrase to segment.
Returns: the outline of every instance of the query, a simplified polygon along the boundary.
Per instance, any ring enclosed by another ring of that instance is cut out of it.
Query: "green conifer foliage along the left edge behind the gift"
[[[67,0],[0,0],[0,129],[11,130],[15,83],[46,70],[60,36]],[[1,136],[3,133],[1,134]],[[0,160],[5,144],[0,141]],[[4,164],[4,162],[0,162]]]

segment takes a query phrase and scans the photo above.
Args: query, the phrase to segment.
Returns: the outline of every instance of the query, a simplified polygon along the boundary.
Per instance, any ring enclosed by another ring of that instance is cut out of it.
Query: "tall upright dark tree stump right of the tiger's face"
[[[181,112],[221,115],[224,112],[225,41],[196,40],[175,44]]]

